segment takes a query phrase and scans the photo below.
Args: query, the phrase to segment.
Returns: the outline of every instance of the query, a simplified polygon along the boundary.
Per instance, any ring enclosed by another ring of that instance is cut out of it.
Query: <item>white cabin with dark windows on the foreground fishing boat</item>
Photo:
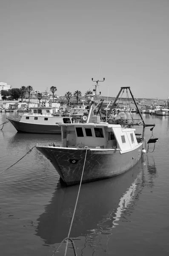
[[[61,126],[62,146],[68,148],[112,148],[129,151],[138,146],[135,128],[108,123],[77,123]]]

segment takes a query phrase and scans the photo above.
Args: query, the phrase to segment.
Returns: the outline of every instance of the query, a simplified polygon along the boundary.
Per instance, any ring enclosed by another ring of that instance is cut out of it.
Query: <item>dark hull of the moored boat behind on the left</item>
[[[24,123],[13,119],[8,119],[18,132],[41,133],[41,134],[61,134],[61,128],[58,125],[38,125]]]

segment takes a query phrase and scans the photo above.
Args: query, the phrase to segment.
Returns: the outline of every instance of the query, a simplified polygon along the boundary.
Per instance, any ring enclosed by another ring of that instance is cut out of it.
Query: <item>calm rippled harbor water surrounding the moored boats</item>
[[[143,118],[156,125],[155,151],[123,175],[81,186],[70,234],[78,256],[169,255],[169,117]],[[0,124],[5,121],[6,113],[0,113]],[[36,143],[58,145],[60,137],[19,134],[11,123],[0,131],[2,256],[51,256],[68,235],[79,186],[63,186],[36,148],[26,154]],[[65,244],[55,255],[64,252]],[[71,245],[67,255],[74,255]]]

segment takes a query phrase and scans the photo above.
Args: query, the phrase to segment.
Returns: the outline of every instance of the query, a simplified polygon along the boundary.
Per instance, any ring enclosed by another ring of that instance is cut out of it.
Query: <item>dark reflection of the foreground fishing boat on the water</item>
[[[127,209],[138,200],[142,183],[139,164],[113,179],[82,184],[70,237],[112,234]],[[79,186],[58,186],[45,212],[37,219],[36,235],[45,244],[60,243],[68,234]]]

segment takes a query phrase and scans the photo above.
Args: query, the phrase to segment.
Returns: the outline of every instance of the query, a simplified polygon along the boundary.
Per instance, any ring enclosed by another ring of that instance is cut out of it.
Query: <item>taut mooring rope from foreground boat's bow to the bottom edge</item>
[[[70,228],[69,228],[68,237],[66,237],[65,239],[63,239],[63,241],[61,241],[61,243],[60,243],[59,246],[56,248],[56,250],[54,251],[54,253],[52,254],[52,256],[54,256],[54,254],[57,252],[57,250],[60,248],[60,246],[61,246],[61,245],[63,244],[63,242],[66,241],[66,240],[67,240],[67,242],[66,242],[66,249],[65,249],[65,254],[64,254],[64,256],[66,256],[67,247],[68,247],[68,240],[70,240],[70,241],[72,242],[72,246],[73,246],[73,250],[74,250],[74,255],[77,256],[75,244],[74,244],[73,240],[72,240],[71,238],[69,238],[69,236],[70,236],[70,232],[71,232],[71,229],[72,229],[72,223],[73,223],[74,214],[75,214],[76,207],[77,207],[77,201],[78,201],[79,194],[80,194],[80,187],[81,187],[81,184],[82,184],[83,172],[84,172],[84,167],[85,167],[85,163],[86,163],[86,155],[87,155],[88,147],[84,147],[84,148],[86,149],[85,160],[84,160],[84,164],[83,164],[82,176],[81,176],[81,180],[80,180],[79,190],[78,190],[78,193],[77,193],[76,204],[75,204],[75,207],[74,207],[74,212],[73,212],[72,221],[71,221]]]

